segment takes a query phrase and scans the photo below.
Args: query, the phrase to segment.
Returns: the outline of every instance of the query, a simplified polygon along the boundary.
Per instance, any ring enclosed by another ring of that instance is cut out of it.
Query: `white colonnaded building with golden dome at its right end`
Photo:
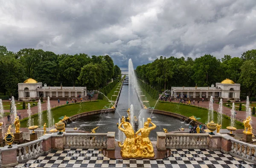
[[[211,87],[172,87],[172,95],[183,94],[189,98],[223,98],[223,100],[240,100],[240,84],[236,84],[230,79],[225,79],[221,83],[212,84]]]

